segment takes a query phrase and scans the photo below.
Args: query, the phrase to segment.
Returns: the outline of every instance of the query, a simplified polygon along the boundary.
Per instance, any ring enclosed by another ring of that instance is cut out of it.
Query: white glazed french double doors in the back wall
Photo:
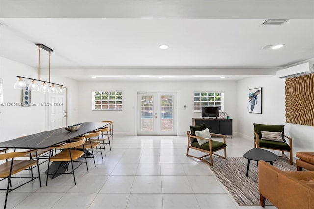
[[[138,92],[138,135],[177,135],[177,92]]]

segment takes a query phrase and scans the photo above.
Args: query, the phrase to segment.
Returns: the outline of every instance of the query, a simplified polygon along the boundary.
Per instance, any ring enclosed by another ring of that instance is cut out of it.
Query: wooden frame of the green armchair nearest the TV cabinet
[[[209,139],[209,138],[203,138],[203,137],[198,137],[198,136],[192,136],[191,135],[191,131],[186,131],[187,133],[187,151],[186,151],[186,156],[189,156],[189,157],[194,157],[196,159],[199,159],[203,162],[205,162],[206,164],[212,166],[213,165],[213,161],[212,161],[212,155],[216,155],[216,156],[219,156],[223,159],[227,159],[227,151],[226,151],[226,147],[223,147],[223,148],[220,148],[218,150],[215,150],[215,151],[212,151],[212,139]],[[224,143],[226,144],[226,135],[222,135],[222,134],[216,134],[216,133],[210,133],[210,135],[212,136],[218,136],[218,137],[222,137],[223,140],[224,140]],[[191,139],[192,138],[195,138],[195,139],[204,139],[204,140],[207,140],[209,141],[209,150],[203,150],[201,148],[198,148],[198,147],[192,147],[191,146]],[[196,156],[192,156],[190,155],[188,152],[189,152],[189,149],[194,149],[194,150],[198,150],[198,151],[201,151],[201,152],[204,152],[204,153],[207,153],[206,155],[204,156],[201,156],[201,157],[196,157]],[[215,152],[219,151],[219,150],[222,150],[224,149],[224,156],[221,156],[221,155],[218,155],[216,154]],[[210,162],[206,161],[205,159],[203,159],[204,157],[207,157],[207,156],[210,156]]]

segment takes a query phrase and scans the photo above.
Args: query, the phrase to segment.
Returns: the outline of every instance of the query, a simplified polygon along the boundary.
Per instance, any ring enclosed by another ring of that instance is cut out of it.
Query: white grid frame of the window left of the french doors
[[[101,92],[101,99],[96,99],[95,92]],[[112,94],[114,92],[114,94]],[[117,94],[117,92],[121,92],[121,94]],[[106,94],[105,94],[106,93]],[[107,96],[105,98],[105,96]],[[112,99],[110,96],[114,96]],[[121,99],[116,99],[116,96],[121,96]],[[103,98],[104,97],[104,98]],[[96,104],[96,102],[100,102],[100,104]],[[118,102],[118,103],[117,103]],[[103,104],[107,103],[107,104]],[[111,103],[111,104],[110,104]],[[123,92],[121,90],[93,90],[92,91],[92,110],[93,111],[122,111],[123,107]],[[96,106],[100,106],[101,108],[96,108]],[[108,108],[102,108],[103,106],[107,106]],[[117,108],[121,106],[121,108]],[[110,108],[113,107],[113,108]]]

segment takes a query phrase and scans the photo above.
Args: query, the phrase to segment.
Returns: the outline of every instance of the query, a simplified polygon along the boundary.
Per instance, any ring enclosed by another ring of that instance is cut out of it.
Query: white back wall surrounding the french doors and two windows
[[[178,92],[178,135],[186,135],[193,117],[201,113],[193,112],[194,91],[224,91],[225,109],[234,119],[233,132],[237,132],[237,82],[236,81],[201,81],[201,82],[80,82],[80,122],[112,120],[115,133],[135,135],[137,133],[137,92]],[[122,111],[92,111],[93,90],[122,90]],[[186,105],[186,109],[182,109]]]

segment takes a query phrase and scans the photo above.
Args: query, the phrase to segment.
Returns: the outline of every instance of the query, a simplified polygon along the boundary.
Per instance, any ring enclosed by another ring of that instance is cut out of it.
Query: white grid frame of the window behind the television
[[[203,100],[201,99],[201,95],[202,93],[206,93],[206,97],[214,97],[214,100]],[[215,100],[216,97],[215,96],[209,96],[208,94],[215,94],[215,93],[220,93],[221,94],[221,100]],[[195,97],[198,97],[198,95],[195,95],[195,94],[200,94],[200,100],[195,100]],[[221,107],[221,109],[219,110],[219,112],[222,112],[224,111],[224,92],[223,91],[194,91],[194,94],[193,94],[193,108],[194,108],[194,112],[201,112],[202,111],[202,107]],[[200,106],[198,105],[195,105],[195,103],[200,103]],[[209,103],[209,102],[213,102],[214,105],[202,105],[202,102],[205,102],[205,103]],[[216,105],[216,103],[221,103],[221,105]],[[200,107],[200,109],[195,109],[195,107]]]

